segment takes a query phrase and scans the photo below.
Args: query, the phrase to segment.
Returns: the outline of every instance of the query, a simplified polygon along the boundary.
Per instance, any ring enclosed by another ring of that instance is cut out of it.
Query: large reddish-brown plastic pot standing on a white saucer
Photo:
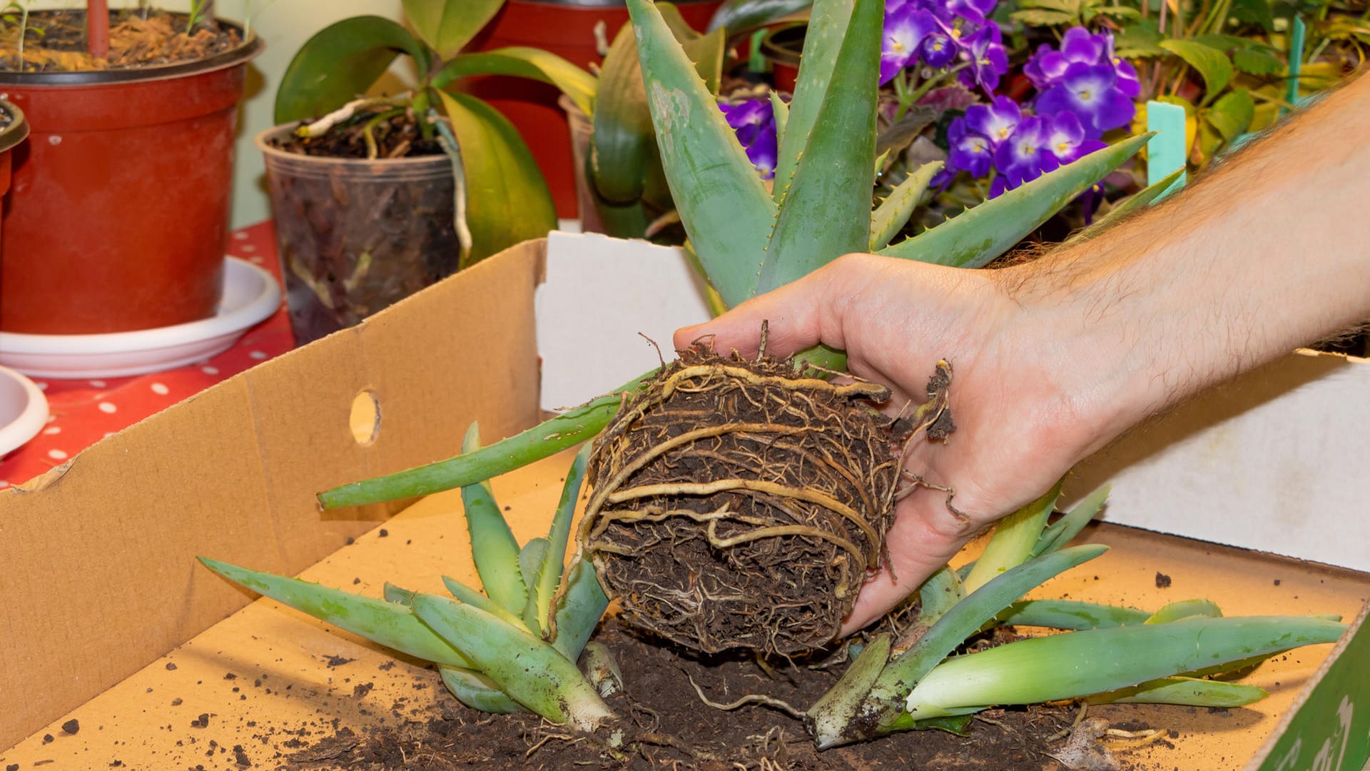
[[[0,73],[33,134],[4,209],[0,329],[127,332],[214,316],[233,132],[258,38],[200,62]]]

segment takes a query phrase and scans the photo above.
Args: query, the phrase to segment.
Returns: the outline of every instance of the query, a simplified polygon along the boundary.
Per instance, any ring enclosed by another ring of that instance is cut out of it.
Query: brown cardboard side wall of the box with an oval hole
[[[534,423],[545,251],[506,250],[0,493],[0,746],[249,601],[195,556],[297,573],[399,508],[321,514],[315,493],[451,457],[477,417],[489,439]],[[349,428],[364,390],[369,446]]]

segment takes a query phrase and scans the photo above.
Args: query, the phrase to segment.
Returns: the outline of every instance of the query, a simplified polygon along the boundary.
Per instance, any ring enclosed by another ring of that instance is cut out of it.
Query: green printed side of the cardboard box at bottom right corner
[[[1370,759],[1370,605],[1312,693],[1269,746],[1260,771],[1360,771]]]

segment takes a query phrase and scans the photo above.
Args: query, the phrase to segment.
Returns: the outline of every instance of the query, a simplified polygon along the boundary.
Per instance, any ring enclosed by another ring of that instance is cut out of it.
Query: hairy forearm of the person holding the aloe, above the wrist
[[[1080,409],[1106,435],[1370,318],[1370,77],[1182,195],[1004,280],[1095,380],[1082,399],[1100,403]]]

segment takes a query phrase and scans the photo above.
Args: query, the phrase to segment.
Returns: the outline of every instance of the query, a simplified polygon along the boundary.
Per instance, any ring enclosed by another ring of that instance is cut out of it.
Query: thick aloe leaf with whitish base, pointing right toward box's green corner
[[[1336,621],[1297,616],[1196,617],[1022,639],[947,660],[918,682],[907,709],[914,717],[933,717],[1078,698],[1254,654],[1336,642],[1344,631]]]

